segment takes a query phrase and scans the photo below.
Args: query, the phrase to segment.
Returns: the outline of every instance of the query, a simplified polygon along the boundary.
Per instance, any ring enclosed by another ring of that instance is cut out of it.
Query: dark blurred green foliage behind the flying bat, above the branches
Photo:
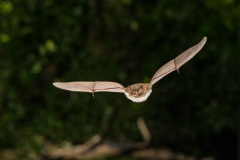
[[[146,102],[75,93],[56,81],[150,82],[165,63],[208,41],[153,86]],[[236,159],[240,2],[234,0],[0,0],[0,152],[31,159],[48,140],[84,143],[96,133],[196,157]]]

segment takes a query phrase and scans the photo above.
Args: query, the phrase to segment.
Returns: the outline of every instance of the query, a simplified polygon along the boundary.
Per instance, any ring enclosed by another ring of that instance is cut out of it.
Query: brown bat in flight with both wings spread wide
[[[108,81],[55,82],[53,85],[69,91],[90,92],[93,96],[94,92],[119,92],[124,93],[128,99],[134,102],[143,102],[151,94],[153,84],[175,70],[179,73],[179,68],[193,58],[202,49],[206,41],[207,38],[204,37],[198,44],[166,63],[154,74],[150,83],[137,83],[126,88],[119,83]]]

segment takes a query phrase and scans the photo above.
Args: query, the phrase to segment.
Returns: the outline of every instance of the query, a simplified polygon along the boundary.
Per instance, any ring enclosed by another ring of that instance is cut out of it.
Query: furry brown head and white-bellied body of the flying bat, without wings
[[[125,88],[125,95],[134,102],[143,102],[151,94],[152,89],[149,83],[137,83]]]

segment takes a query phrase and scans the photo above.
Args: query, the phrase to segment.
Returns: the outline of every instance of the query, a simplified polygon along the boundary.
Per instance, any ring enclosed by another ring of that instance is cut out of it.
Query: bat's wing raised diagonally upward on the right
[[[195,46],[189,48],[182,54],[180,54],[177,58],[171,60],[164,66],[162,66],[153,76],[150,85],[152,86],[154,83],[159,81],[161,78],[166,76],[167,74],[171,73],[172,71],[175,71],[185,64],[187,61],[189,61],[192,57],[194,57],[204,46],[206,43],[207,38],[204,37],[198,44]]]

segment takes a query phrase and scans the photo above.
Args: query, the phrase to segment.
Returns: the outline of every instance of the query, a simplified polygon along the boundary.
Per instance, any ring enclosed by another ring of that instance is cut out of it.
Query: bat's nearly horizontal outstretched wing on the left
[[[121,92],[124,93],[124,87],[116,82],[55,82],[55,87],[76,91],[76,92]]]

